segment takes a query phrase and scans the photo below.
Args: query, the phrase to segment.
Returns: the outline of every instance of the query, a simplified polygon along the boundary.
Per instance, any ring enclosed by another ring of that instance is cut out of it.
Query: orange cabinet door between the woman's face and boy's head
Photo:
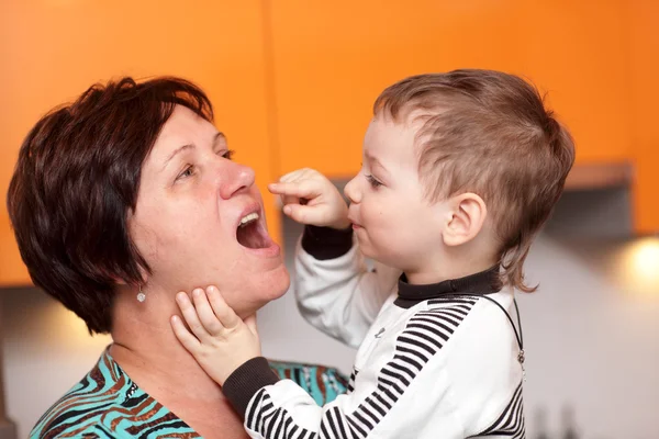
[[[510,1],[282,0],[271,22],[282,172],[357,172],[373,101],[399,79],[518,67],[520,21]]]

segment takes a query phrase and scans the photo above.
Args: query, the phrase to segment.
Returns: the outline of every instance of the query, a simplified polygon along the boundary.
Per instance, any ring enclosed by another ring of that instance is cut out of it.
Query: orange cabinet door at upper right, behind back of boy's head
[[[522,72],[577,143],[577,164],[632,157],[626,2],[518,2]]]

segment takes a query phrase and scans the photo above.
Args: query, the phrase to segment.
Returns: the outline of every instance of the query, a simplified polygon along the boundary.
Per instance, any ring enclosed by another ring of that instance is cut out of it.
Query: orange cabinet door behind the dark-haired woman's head
[[[20,144],[37,119],[93,82],[122,75],[175,75],[200,85],[236,159],[256,169],[263,187],[272,162],[263,19],[257,1],[0,2],[2,200]],[[268,200],[270,228],[278,230],[272,206]],[[0,285],[29,283],[4,202],[0,248]]]

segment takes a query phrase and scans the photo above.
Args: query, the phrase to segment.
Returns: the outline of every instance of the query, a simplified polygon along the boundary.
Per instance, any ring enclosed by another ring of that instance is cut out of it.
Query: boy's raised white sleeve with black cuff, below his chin
[[[293,289],[302,316],[323,333],[357,348],[400,271],[369,271],[353,229],[305,226],[295,254]]]

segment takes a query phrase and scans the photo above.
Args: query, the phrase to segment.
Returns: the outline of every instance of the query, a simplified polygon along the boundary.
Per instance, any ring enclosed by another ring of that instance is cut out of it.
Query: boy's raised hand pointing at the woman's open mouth
[[[314,169],[287,173],[268,190],[280,195],[283,213],[298,223],[332,228],[347,228],[348,206],[334,184]]]

